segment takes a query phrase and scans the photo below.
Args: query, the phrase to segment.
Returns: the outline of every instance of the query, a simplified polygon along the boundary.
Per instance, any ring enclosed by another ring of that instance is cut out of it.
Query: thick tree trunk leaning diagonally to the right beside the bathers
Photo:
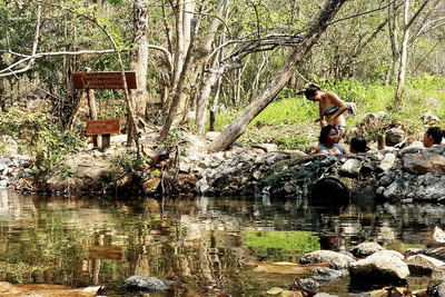
[[[303,38],[301,43],[297,46],[286,59],[281,69],[274,76],[265,90],[246,107],[244,112],[237,117],[226,130],[222,131],[212,142],[209,143],[209,150],[222,150],[229,147],[246,130],[250,121],[265,109],[287,85],[290,76],[295,72],[297,65],[310,50],[320,34],[326,30],[330,20],[334,19],[340,7],[346,0],[329,0],[322,13],[314,22],[309,32]]]

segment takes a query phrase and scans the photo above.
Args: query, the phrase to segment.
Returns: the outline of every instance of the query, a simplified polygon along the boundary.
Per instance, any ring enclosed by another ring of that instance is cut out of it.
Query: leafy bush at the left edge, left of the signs
[[[61,130],[57,118],[44,112],[26,112],[19,106],[0,112],[0,135],[12,136],[27,154],[36,157],[37,166],[51,167],[61,156],[81,146],[79,137]]]

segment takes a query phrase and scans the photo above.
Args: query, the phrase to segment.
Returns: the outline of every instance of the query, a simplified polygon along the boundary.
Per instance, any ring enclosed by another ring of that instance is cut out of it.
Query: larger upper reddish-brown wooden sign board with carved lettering
[[[126,73],[128,89],[137,89],[136,72]],[[123,89],[120,72],[76,72],[72,73],[75,89]]]

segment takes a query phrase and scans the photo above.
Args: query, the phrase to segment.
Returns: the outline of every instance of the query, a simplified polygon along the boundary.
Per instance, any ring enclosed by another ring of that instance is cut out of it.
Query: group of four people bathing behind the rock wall
[[[368,150],[367,141],[363,136],[355,136],[349,147],[340,145],[340,139],[346,133],[346,119],[343,113],[348,109],[347,105],[334,92],[324,92],[316,85],[309,85],[305,91],[306,99],[318,102],[319,123],[322,127],[318,145],[315,154],[343,155],[357,154]],[[327,125],[325,126],[325,122]],[[428,148],[442,142],[445,130],[439,127],[428,128],[423,138],[424,147]]]

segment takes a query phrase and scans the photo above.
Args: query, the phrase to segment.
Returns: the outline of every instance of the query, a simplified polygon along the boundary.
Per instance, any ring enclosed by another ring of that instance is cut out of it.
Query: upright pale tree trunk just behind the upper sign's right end
[[[145,117],[147,103],[147,69],[148,69],[148,7],[145,0],[134,3],[134,44],[130,69],[136,72],[137,89],[134,91],[135,112]]]

